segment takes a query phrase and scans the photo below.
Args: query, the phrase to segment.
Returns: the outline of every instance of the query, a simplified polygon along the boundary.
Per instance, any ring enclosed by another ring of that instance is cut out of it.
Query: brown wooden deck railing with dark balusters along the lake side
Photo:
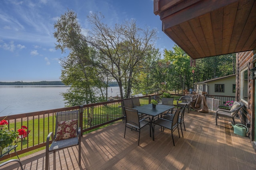
[[[160,95],[160,94],[159,94]],[[153,95],[142,96],[140,104],[149,104]],[[59,109],[51,109],[44,111],[36,111],[31,113],[23,113],[18,115],[8,115],[0,117],[0,120],[8,121],[8,129],[20,129],[25,125],[30,130],[30,134],[24,139],[18,139],[16,148],[18,154],[22,154],[31,150],[44,147],[46,138],[50,132],[54,132],[56,123],[56,112],[79,110],[80,127],[82,132],[96,129],[97,127],[107,125],[114,121],[124,119],[123,100],[112,100],[108,102],[100,102],[94,104],[86,104],[82,106],[64,107]],[[16,156],[10,153],[0,158],[4,160]]]

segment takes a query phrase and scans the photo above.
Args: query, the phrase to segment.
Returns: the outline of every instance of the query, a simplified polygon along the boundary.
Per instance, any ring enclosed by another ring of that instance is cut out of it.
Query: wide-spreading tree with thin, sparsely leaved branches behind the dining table
[[[124,98],[123,88],[125,98],[129,98],[134,76],[154,49],[157,31],[149,27],[141,29],[135,20],[109,27],[102,22],[104,16],[99,15],[90,13],[88,16],[92,30],[87,40],[99,53],[94,64],[117,81],[121,98]]]

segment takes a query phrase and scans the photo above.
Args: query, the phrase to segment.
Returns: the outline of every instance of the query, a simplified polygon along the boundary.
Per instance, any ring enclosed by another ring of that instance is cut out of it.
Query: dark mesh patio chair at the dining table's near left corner
[[[124,112],[126,115],[124,138],[125,138],[125,133],[126,133],[126,127],[129,129],[132,129],[134,131],[137,131],[137,132],[139,132],[138,145],[140,145],[140,129],[142,129],[146,125],[149,125],[150,137],[151,137],[151,126],[150,126],[150,118],[149,117],[140,119],[138,111],[136,109],[132,109],[129,107],[124,107]]]

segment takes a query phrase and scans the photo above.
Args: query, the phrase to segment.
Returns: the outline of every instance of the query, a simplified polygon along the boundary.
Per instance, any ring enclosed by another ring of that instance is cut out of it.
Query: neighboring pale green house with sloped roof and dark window
[[[194,83],[196,92],[219,96],[236,95],[236,74]]]

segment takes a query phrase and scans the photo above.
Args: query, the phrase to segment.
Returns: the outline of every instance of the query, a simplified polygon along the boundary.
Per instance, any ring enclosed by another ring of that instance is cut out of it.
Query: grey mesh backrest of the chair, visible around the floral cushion
[[[58,122],[60,121],[68,121],[78,119],[78,110],[72,111],[60,111],[56,114],[56,126],[55,126],[55,134],[57,134]],[[76,129],[78,130],[78,123],[76,123]]]

